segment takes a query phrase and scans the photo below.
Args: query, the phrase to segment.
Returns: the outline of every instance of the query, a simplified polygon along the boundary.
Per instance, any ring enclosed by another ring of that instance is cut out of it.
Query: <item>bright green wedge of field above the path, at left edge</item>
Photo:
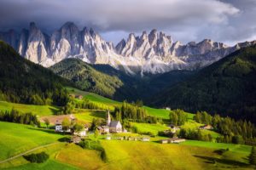
[[[63,135],[56,134],[52,130],[10,122],[0,122],[0,134],[1,161],[40,145],[55,143],[63,138]]]

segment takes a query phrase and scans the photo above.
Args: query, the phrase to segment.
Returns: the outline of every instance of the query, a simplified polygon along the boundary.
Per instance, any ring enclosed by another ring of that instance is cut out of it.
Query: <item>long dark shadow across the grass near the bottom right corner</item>
[[[249,164],[241,162],[241,161],[219,159],[217,157],[210,157],[210,156],[195,156],[195,157],[201,158],[201,159],[205,160],[205,162],[212,163],[212,164],[218,162],[218,163],[223,163],[226,165],[233,165],[233,166],[239,166],[239,167],[248,167],[249,166]]]

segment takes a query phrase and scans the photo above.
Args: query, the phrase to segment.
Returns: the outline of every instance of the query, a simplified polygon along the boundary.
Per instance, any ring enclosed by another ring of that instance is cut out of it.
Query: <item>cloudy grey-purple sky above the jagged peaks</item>
[[[0,1],[1,31],[27,28],[31,21],[48,33],[73,21],[115,44],[153,28],[183,43],[211,38],[234,44],[256,39],[256,0]]]

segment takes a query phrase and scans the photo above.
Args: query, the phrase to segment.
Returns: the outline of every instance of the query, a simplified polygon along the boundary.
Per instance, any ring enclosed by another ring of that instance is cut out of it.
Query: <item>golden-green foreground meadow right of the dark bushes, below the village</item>
[[[242,169],[247,168],[240,153],[233,151],[239,160],[219,156],[214,149],[182,144],[143,143],[140,141],[102,141],[108,164],[102,169]],[[215,160],[214,163],[212,160]],[[249,168],[249,167],[248,167]]]

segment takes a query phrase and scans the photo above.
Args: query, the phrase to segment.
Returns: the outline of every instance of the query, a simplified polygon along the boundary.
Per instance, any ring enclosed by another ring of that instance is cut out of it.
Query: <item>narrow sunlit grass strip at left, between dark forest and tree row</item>
[[[11,111],[12,109],[21,112],[32,112],[38,116],[54,115],[55,112],[59,111],[59,108],[50,105],[23,105],[0,101],[0,111]]]

